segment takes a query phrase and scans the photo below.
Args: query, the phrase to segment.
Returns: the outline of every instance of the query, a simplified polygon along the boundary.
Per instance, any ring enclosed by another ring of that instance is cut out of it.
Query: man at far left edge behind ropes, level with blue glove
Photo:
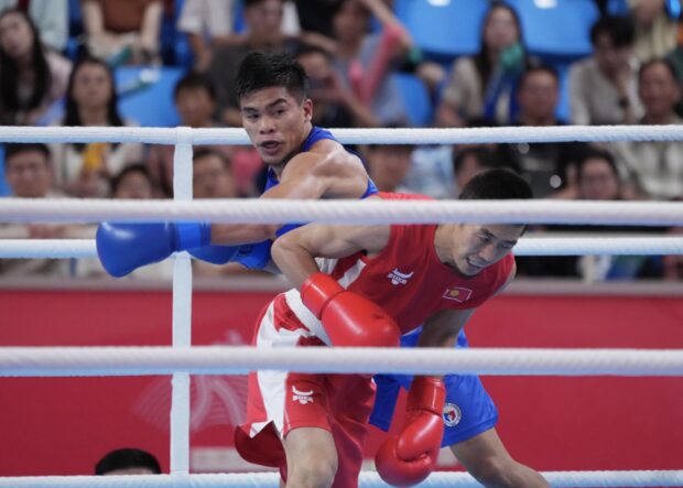
[[[58,198],[53,166],[45,144],[7,144],[4,175],[15,198]],[[59,239],[94,237],[78,226],[61,224],[0,224],[2,239]],[[69,261],[59,259],[0,259],[0,275],[68,276]]]

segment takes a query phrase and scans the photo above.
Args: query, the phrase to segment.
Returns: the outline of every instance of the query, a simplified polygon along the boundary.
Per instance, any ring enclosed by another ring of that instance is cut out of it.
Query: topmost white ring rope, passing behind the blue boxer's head
[[[473,129],[329,129],[345,144],[462,144],[500,142],[680,141],[683,126],[483,127]],[[0,142],[144,142],[250,144],[238,128],[0,127]]]

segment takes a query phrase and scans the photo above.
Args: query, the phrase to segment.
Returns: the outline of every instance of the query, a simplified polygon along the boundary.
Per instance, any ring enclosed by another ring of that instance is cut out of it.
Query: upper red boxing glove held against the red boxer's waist
[[[323,322],[333,346],[399,347],[393,318],[368,299],[347,291],[329,274],[315,273],[301,286],[301,300]]]

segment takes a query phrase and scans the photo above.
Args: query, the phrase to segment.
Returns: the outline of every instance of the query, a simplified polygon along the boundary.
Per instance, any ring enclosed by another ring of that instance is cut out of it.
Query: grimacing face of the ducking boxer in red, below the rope
[[[453,232],[451,250],[457,270],[474,276],[508,254],[524,232],[524,226],[459,225]]]

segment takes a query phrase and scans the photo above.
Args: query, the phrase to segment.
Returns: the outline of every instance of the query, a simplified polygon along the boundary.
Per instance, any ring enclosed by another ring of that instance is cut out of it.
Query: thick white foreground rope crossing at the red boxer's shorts
[[[0,377],[323,373],[683,376],[683,349],[0,347]]]

